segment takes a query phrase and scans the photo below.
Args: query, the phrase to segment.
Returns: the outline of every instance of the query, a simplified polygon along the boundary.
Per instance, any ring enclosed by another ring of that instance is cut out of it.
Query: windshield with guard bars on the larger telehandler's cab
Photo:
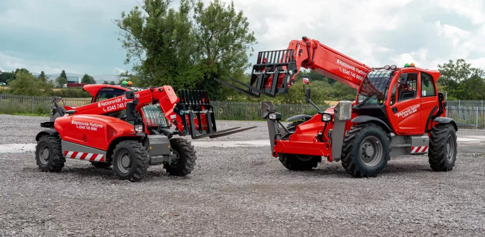
[[[377,70],[367,74],[360,86],[358,103],[380,104],[381,101],[384,102],[393,72],[391,70]]]

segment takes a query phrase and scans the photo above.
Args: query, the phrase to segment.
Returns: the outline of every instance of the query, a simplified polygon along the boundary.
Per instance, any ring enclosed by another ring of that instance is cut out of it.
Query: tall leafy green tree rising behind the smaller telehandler
[[[242,11],[234,4],[213,0],[144,0],[114,23],[127,51],[125,63],[134,62],[140,86],[171,85],[174,89],[206,89],[222,98],[213,78],[242,76],[249,66],[247,51],[256,44]]]

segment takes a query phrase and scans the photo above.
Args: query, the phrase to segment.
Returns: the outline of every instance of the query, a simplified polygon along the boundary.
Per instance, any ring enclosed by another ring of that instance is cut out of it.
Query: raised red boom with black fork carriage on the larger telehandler
[[[216,80],[254,97],[259,97],[260,94],[275,97],[276,94],[288,93],[296,74],[302,67],[355,89],[371,70],[369,66],[317,40],[303,37],[302,40],[291,41],[286,50],[259,52],[257,63],[253,66],[250,84],[230,78],[248,90],[220,79]]]

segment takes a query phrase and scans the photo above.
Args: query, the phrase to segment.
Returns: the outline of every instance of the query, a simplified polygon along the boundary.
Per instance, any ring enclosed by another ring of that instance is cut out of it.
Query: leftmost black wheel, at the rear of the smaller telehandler
[[[58,135],[43,135],[35,146],[35,160],[42,171],[60,172],[64,167],[61,138]]]

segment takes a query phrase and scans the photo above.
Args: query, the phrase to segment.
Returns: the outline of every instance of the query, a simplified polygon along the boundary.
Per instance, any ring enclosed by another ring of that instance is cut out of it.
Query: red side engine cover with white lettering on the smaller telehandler
[[[57,118],[54,128],[68,142],[108,150],[114,138],[136,136],[133,125],[103,115],[71,115]]]

